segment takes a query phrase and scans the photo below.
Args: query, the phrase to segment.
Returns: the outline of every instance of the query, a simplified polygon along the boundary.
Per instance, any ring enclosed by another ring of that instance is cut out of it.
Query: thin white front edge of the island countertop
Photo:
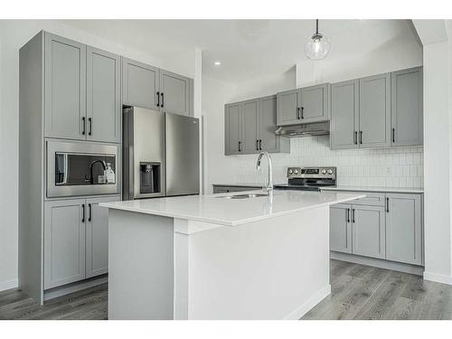
[[[365,194],[358,194],[358,193],[356,193],[353,197],[337,199],[334,202],[318,203],[318,204],[315,204],[315,205],[304,206],[304,207],[300,207],[300,208],[296,208],[296,209],[292,209],[292,210],[288,210],[288,211],[275,212],[275,213],[266,214],[266,215],[259,215],[257,217],[243,219],[243,220],[240,220],[240,221],[224,221],[224,220],[221,220],[221,219],[209,219],[209,218],[193,217],[191,215],[178,214],[178,213],[174,213],[174,212],[157,212],[157,211],[152,211],[152,210],[140,210],[140,209],[136,209],[136,208],[130,208],[130,207],[127,207],[127,206],[118,206],[118,205],[116,205],[116,204],[114,204],[112,202],[101,202],[101,203],[99,203],[99,206],[100,207],[111,208],[113,210],[119,210],[119,211],[136,212],[136,213],[150,214],[150,215],[158,215],[158,216],[162,216],[162,217],[184,219],[184,220],[189,220],[189,221],[208,222],[208,223],[214,223],[214,224],[222,225],[222,226],[239,226],[239,225],[243,225],[243,224],[254,222],[254,221],[261,221],[261,220],[275,218],[275,217],[280,217],[280,216],[293,214],[293,213],[297,213],[297,212],[303,212],[303,211],[307,211],[307,210],[312,210],[312,209],[315,209],[315,208],[327,207],[327,206],[334,205],[336,203],[350,202],[350,201],[353,201],[353,200],[356,200],[356,199],[361,199],[361,198],[364,198],[364,197],[365,197]]]

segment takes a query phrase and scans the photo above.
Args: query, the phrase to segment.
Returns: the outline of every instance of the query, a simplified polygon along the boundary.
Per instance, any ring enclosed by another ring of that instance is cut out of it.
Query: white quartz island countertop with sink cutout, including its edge
[[[363,193],[275,191],[272,199],[268,196],[249,199],[223,198],[243,193],[262,193],[262,191],[102,202],[100,206],[121,211],[236,226],[334,203],[349,202],[365,196]]]

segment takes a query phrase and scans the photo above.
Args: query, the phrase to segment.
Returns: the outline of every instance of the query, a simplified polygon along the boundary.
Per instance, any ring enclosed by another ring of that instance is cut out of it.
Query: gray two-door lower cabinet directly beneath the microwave
[[[108,272],[108,210],[112,197],[44,202],[44,289]]]

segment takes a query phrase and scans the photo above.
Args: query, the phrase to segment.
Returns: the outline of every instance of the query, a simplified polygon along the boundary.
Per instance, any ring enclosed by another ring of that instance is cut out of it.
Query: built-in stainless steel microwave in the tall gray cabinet
[[[119,193],[119,146],[47,140],[47,197]]]

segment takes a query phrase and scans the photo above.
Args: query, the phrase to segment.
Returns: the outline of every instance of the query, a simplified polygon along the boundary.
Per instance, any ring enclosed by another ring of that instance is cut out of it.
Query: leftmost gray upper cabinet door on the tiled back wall
[[[224,154],[239,155],[241,146],[241,105],[240,103],[224,106]]]

